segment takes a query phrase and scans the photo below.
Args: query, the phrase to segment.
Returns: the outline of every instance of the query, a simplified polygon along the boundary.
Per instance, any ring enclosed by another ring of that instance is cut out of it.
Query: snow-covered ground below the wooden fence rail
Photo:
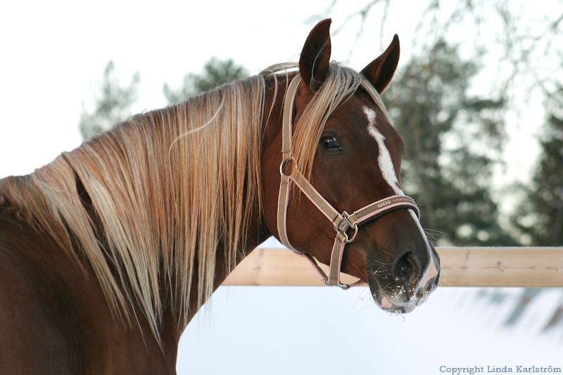
[[[279,243],[272,239],[262,245],[274,246]],[[488,296],[495,292],[503,298],[493,302]],[[521,293],[443,287],[414,312],[395,315],[379,310],[367,287],[222,286],[184,331],[177,371],[434,375],[463,367],[483,367],[485,374],[505,366],[513,373],[531,366],[563,369],[562,329],[542,333],[561,289],[545,289],[507,327]]]

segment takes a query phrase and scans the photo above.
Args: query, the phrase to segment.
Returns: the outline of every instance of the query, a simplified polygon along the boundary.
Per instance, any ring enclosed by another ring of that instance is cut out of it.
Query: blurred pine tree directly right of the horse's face
[[[476,72],[440,40],[398,72],[384,99],[406,144],[402,184],[424,226],[442,232],[441,244],[512,245],[489,193],[493,160],[479,152],[502,142],[493,113],[503,101],[467,94]]]

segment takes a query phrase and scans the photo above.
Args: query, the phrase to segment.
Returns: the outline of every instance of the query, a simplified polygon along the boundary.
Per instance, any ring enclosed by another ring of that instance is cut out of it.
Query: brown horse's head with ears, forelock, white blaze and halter
[[[330,23],[312,29],[297,78],[281,90],[284,125],[267,118],[265,221],[286,246],[331,265],[325,283],[347,288],[334,274],[351,274],[385,310],[409,312],[436,288],[440,265],[400,188],[405,145],[379,98],[397,68],[399,39],[358,73],[330,62]]]

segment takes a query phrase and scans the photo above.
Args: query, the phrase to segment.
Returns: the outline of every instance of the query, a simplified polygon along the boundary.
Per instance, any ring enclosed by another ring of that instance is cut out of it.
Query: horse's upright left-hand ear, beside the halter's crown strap
[[[312,92],[320,89],[329,72],[331,22],[327,18],[313,27],[299,58],[299,74]]]

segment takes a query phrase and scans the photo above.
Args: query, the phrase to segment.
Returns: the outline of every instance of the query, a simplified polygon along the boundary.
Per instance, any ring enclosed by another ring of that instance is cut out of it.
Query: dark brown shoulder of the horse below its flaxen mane
[[[139,320],[116,319],[94,274],[0,207],[0,374],[175,374],[177,340],[163,350]]]

